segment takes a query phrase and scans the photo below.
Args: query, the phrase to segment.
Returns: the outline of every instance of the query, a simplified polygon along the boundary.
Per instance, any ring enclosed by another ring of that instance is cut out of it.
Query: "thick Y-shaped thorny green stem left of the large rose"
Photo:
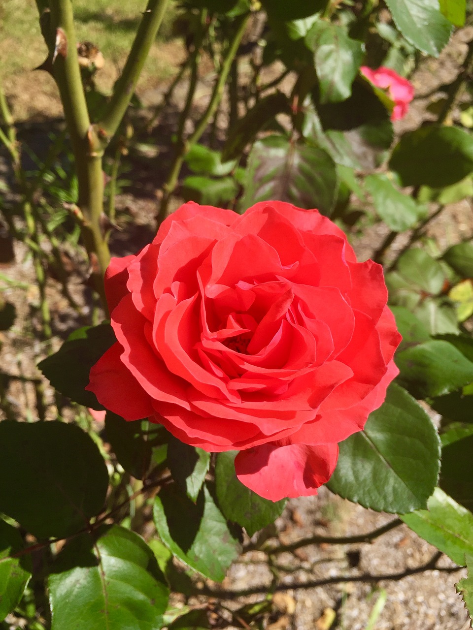
[[[72,3],[71,0],[50,0],[51,20],[46,39],[50,57],[54,60],[54,76],[76,161],[78,207],[85,217],[81,234],[91,263],[93,285],[102,298],[106,315],[103,276],[110,252],[100,222],[103,214],[103,151],[126,112],[167,4],[168,0],[149,0],[105,115],[101,122],[91,125],[78,64]]]

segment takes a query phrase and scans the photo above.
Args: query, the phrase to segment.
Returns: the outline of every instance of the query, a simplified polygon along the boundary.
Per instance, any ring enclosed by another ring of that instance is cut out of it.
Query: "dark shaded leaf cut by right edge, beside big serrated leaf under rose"
[[[466,428],[472,430],[472,426]],[[450,440],[452,436],[450,435]],[[440,487],[455,501],[473,512],[473,435],[450,442],[442,448]]]

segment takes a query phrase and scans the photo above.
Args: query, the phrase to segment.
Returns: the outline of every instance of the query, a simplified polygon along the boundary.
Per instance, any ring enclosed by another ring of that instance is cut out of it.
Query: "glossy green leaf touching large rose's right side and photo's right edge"
[[[416,398],[443,396],[473,381],[473,363],[448,341],[426,341],[396,355],[402,386]]]

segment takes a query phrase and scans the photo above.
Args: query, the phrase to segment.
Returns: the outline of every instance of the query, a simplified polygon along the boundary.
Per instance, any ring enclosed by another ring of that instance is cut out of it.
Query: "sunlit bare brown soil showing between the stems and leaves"
[[[445,83],[452,73],[455,75],[464,54],[462,52],[464,42],[470,37],[472,33],[466,30],[458,33],[440,59],[429,60],[421,66],[413,78],[418,94],[431,93],[433,89]],[[165,43],[156,49],[155,54],[160,63],[172,71],[182,59],[182,44]],[[113,76],[114,72],[110,71],[111,80]],[[155,105],[167,84],[168,81],[164,81],[162,76],[155,82],[148,77],[147,84],[141,86],[139,95],[148,106]],[[41,73],[40,80],[34,84],[30,72],[17,74],[15,79],[10,76],[5,81],[5,87],[13,103],[14,112],[18,113],[20,118],[30,121],[48,120],[60,115],[54,84],[45,73]],[[206,82],[202,81],[202,99],[205,100],[207,92]],[[177,95],[177,98],[180,96]],[[428,116],[425,108],[426,102],[423,99],[416,101],[409,117],[402,122],[402,129],[417,127],[419,117]],[[138,158],[136,159],[138,162]],[[0,159],[0,176],[2,172],[4,176],[8,176],[4,159]],[[115,235],[112,243],[115,255],[137,251],[149,242],[154,234],[156,193],[161,175],[159,161],[152,161],[146,167],[141,162],[136,163],[132,171],[132,176],[135,175],[134,185],[117,199],[119,210],[129,209],[133,225],[128,226],[127,231]],[[178,200],[175,203],[177,205]],[[428,236],[435,239],[440,251],[457,242],[458,238],[471,236],[472,233],[471,200],[450,207],[428,229]],[[363,259],[372,255],[373,249],[383,236],[385,231],[377,224],[367,229],[361,238],[354,239],[359,256]],[[399,243],[395,242],[394,249],[400,246],[401,237]],[[16,243],[15,248],[15,261],[0,268],[0,287],[4,289],[4,297],[15,304],[17,311],[13,328],[6,333],[0,333],[1,372],[18,377],[6,382],[3,403],[20,418],[35,418],[35,389],[28,379],[39,377],[35,365],[38,358],[49,351],[49,347],[47,343],[40,341],[37,335],[38,290],[32,260],[26,256],[23,244]],[[71,251],[71,256],[75,263],[69,278],[71,292],[85,308],[88,308],[90,296],[83,285],[86,268],[74,251]],[[68,332],[80,325],[80,319],[71,312],[61,295],[59,285],[54,280],[50,280],[47,292],[55,332],[52,345],[56,348]],[[46,392],[48,401],[52,403],[52,392],[48,389]],[[390,515],[364,510],[322,488],[317,497],[289,501],[283,517],[277,522],[277,537],[286,544],[313,534],[354,535],[369,532],[391,518],[393,517]],[[368,628],[368,620],[377,597],[385,597],[385,605],[371,630],[466,630],[470,624],[462,600],[455,593],[455,583],[465,575],[464,570],[426,571],[392,581],[378,582],[376,579],[377,575],[402,573],[406,569],[420,566],[428,562],[435,551],[435,548],[419,539],[403,525],[371,544],[312,545],[303,547],[295,555],[284,554],[278,558],[278,563],[284,566],[277,569],[282,587],[279,599],[276,598],[279,610],[274,612],[266,627],[271,630],[286,628],[329,630],[330,627],[365,630]],[[439,564],[443,568],[453,567],[445,557]],[[358,576],[368,573],[373,576],[371,582],[356,581]],[[223,585],[209,586],[228,591],[225,604],[228,610],[235,610],[245,602],[264,599],[264,590],[271,583],[272,575],[264,556],[254,551],[245,554],[233,564]],[[354,581],[324,586],[313,585],[318,580],[334,576],[353,576]],[[237,599],[230,597],[230,592],[240,592],[254,587],[261,587],[263,592]],[[374,587],[378,590],[372,595]],[[177,598],[176,603],[179,601]],[[333,621],[331,625],[330,619]],[[235,623],[235,619],[232,621],[230,616],[228,627],[248,626]]]

